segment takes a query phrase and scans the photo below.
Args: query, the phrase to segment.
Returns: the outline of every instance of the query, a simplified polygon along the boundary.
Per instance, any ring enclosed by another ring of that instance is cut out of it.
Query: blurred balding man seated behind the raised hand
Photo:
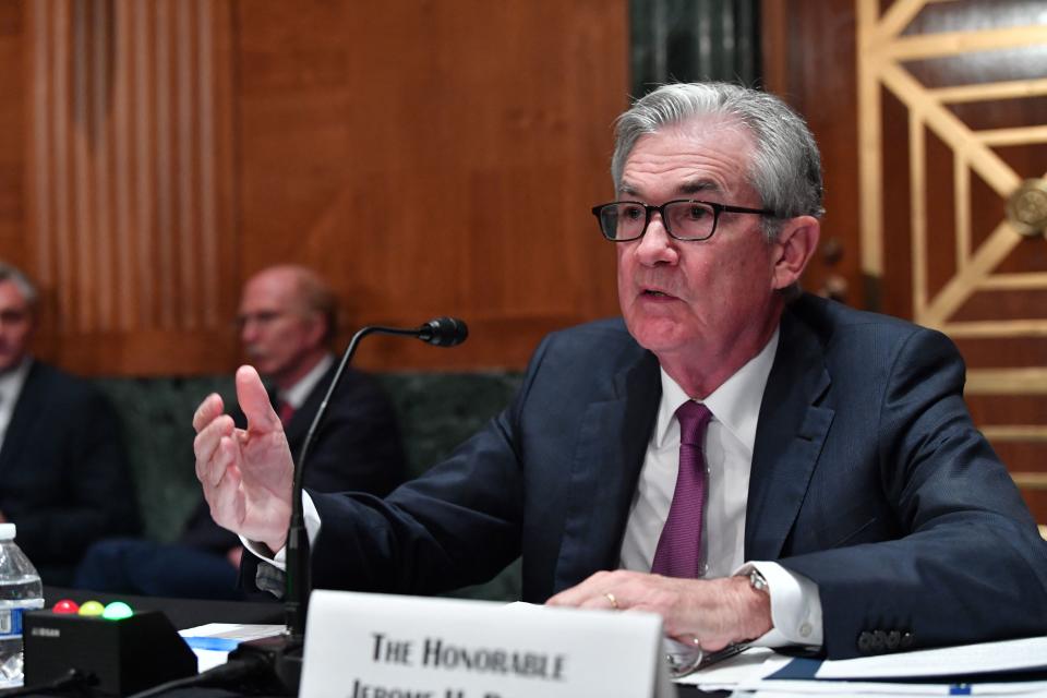
[[[284,265],[248,280],[240,300],[240,339],[270,385],[289,448],[298,454],[337,369],[328,350],[336,327],[330,289],[310,269]],[[242,414],[237,422],[244,425]],[[317,432],[305,482],[320,492],[385,495],[406,477],[396,418],[370,376],[346,371]],[[172,545],[137,539],[101,541],[85,555],[76,586],[95,591],[239,599],[243,547],[210,517],[206,502]]]

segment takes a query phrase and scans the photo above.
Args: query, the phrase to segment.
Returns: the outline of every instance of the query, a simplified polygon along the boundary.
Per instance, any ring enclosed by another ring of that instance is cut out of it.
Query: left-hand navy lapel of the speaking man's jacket
[[[591,402],[579,421],[554,591],[618,564],[661,396],[654,356],[643,353],[615,376],[613,385],[611,399]]]

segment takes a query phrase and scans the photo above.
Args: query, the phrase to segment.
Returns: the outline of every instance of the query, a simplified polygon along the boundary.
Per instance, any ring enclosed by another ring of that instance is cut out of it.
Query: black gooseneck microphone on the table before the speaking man
[[[312,590],[310,581],[309,535],[305,532],[305,515],[302,507],[302,473],[305,460],[316,433],[320,431],[327,416],[327,404],[341,383],[341,376],[352,361],[360,340],[372,334],[401,335],[417,337],[434,347],[457,347],[469,337],[469,328],[465,321],[457,317],[435,317],[420,327],[405,329],[399,327],[384,327],[369,325],[362,327],[349,340],[349,346],[338,362],[324,400],[320,404],[316,414],[305,434],[305,441],[294,460],[294,479],[291,488],[291,521],[287,531],[287,574],[285,576],[284,613],[287,621],[287,633],[277,637],[262,638],[250,642],[242,642],[230,652],[229,659],[252,659],[263,655],[264,663],[269,672],[270,688],[276,688],[282,695],[298,695],[298,685],[302,671],[302,649],[305,643],[305,617],[309,611],[309,592]],[[274,681],[275,679],[275,681]]]

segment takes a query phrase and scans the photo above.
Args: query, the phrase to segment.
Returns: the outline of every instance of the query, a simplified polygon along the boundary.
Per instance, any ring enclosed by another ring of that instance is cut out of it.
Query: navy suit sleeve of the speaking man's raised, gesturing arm
[[[535,352],[506,410],[384,501],[310,491],[322,520],[313,549],[315,587],[440,593],[485,581],[519,556],[520,412],[546,346]],[[253,579],[246,565],[243,571]]]

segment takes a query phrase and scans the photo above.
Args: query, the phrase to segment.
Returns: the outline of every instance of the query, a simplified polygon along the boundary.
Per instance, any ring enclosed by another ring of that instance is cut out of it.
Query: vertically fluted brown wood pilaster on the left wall
[[[225,0],[39,0],[25,3],[32,202],[27,268],[45,299],[38,350],[86,373],[122,373],[101,344],[137,346],[145,373],[184,370],[186,337],[226,346],[190,371],[231,358],[226,317],[237,285],[218,257],[230,238],[231,146]],[[217,67],[217,68],[216,68]],[[99,337],[111,341],[96,341]]]

